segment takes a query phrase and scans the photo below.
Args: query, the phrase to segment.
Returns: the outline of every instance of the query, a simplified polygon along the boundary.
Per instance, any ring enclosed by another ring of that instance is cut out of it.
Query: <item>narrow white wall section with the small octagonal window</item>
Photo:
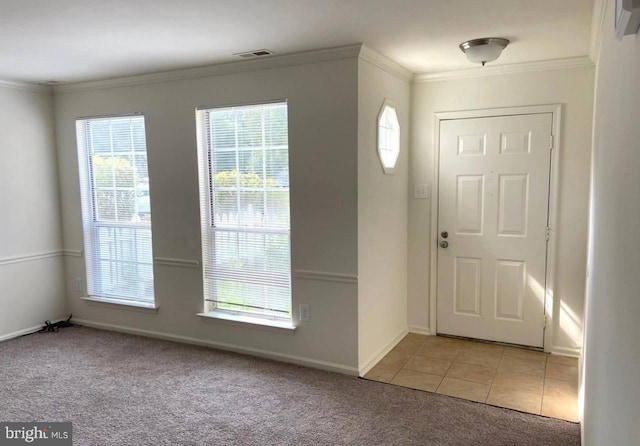
[[[407,182],[410,85],[360,59],[358,69],[358,350],[360,372],[407,332]],[[385,175],[377,152],[385,99],[400,121],[400,155]]]

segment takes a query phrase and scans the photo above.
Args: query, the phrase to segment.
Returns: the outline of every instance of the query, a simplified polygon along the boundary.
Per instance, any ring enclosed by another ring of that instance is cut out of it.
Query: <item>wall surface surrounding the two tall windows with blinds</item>
[[[285,58],[285,60],[287,60]],[[266,62],[268,63],[268,62]],[[355,276],[358,58],[111,88],[65,87],[55,98],[65,248],[82,249],[75,119],[142,112],[147,131],[155,257],[199,260],[200,211],[194,110],[286,98],[289,104],[293,309],[311,320],[294,335],[196,316],[201,271],[157,265],[157,313],[80,300],[83,258],[67,258],[74,318],[100,326],[188,337],[357,373],[357,282],[308,280],[295,270]],[[70,91],[71,90],[71,91]]]

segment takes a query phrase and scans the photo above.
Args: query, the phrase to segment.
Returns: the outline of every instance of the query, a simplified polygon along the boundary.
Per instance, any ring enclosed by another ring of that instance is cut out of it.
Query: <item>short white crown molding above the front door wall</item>
[[[550,59],[536,62],[523,62],[509,65],[470,68],[467,70],[445,71],[441,73],[416,74],[414,83],[448,81],[457,79],[471,79],[502,74],[530,73],[535,71],[564,70],[569,68],[587,68],[594,64],[588,56],[568,57],[565,59]]]

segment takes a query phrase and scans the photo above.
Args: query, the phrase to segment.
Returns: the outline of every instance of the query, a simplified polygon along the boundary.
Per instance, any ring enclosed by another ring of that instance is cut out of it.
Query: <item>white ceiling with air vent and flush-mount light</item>
[[[593,0],[0,0],[0,78],[75,82],[364,42],[415,73],[584,56]]]

